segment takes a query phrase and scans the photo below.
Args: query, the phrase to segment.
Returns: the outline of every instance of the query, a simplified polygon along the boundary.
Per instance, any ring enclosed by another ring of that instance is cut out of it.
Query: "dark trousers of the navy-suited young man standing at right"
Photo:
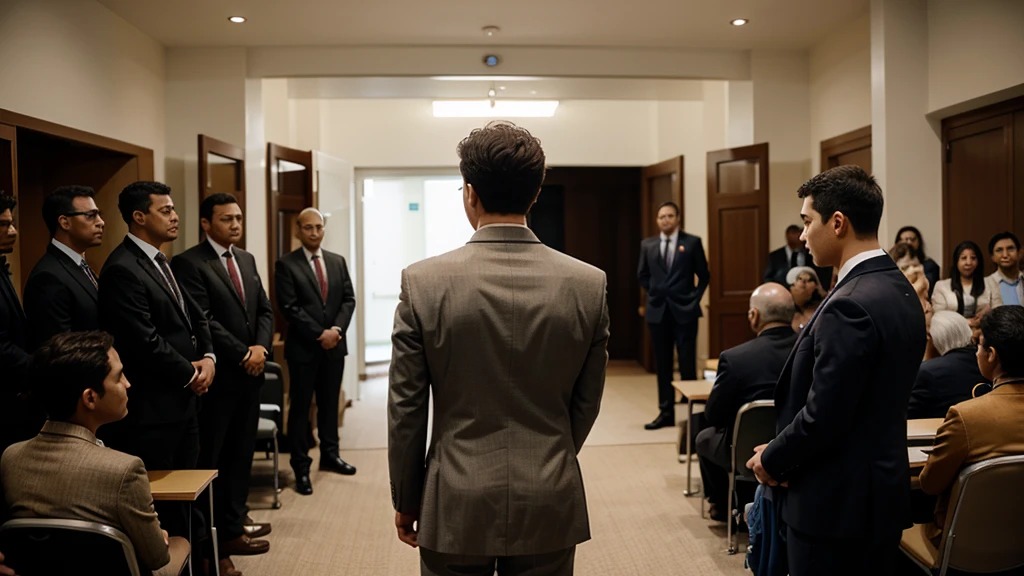
[[[890,576],[900,536],[897,531],[869,538],[820,538],[786,527],[790,576]]]

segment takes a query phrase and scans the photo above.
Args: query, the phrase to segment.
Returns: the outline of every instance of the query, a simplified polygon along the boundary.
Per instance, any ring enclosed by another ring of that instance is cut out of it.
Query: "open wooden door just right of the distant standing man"
[[[768,258],[768,145],[708,153],[709,357],[754,337],[751,293]]]

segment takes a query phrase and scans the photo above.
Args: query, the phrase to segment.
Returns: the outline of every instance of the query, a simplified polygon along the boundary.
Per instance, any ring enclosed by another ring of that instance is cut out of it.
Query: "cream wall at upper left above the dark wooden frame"
[[[0,2],[0,108],[152,149],[158,180],[164,76],[164,47],[96,2]]]

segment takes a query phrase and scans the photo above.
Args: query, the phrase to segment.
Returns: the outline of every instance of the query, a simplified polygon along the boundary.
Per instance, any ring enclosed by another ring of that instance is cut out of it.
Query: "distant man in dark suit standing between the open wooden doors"
[[[662,234],[640,243],[637,277],[647,292],[644,317],[657,364],[658,415],[644,426],[649,430],[676,425],[673,346],[679,353],[682,379],[695,380],[697,377],[697,319],[703,316],[700,298],[708,288],[711,273],[700,239],[686,234],[679,225],[679,206],[666,202],[657,209],[657,227]]]

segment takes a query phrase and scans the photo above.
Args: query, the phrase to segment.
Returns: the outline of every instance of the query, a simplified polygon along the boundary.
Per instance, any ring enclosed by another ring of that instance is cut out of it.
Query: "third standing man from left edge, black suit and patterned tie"
[[[206,315],[181,290],[160,251],[178,237],[171,189],[130,183],[118,197],[118,209],[129,233],[99,276],[99,324],[114,336],[125,376],[135,384],[128,416],[106,426],[108,444],[138,456],[150,470],[195,468],[196,397],[213,383],[217,357]],[[157,507],[168,532],[188,536],[184,507]]]

